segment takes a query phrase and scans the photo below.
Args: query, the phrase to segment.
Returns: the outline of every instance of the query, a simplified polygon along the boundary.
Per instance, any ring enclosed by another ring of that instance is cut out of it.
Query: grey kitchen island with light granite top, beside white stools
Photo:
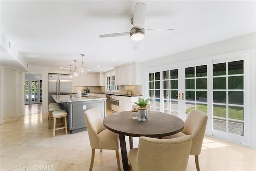
[[[84,112],[88,109],[98,107],[102,118],[106,116],[106,97],[73,97],[70,95],[52,95],[56,103],[60,104],[62,110],[67,111],[67,125],[71,133],[86,131]]]

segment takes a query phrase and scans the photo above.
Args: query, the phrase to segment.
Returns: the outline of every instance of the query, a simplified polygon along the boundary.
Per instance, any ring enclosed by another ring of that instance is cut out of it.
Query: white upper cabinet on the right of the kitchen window
[[[130,63],[116,68],[116,84],[117,85],[137,85],[141,83],[141,64]]]

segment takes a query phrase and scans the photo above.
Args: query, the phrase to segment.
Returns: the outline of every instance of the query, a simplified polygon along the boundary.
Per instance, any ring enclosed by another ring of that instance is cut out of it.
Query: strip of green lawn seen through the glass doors
[[[189,111],[191,109],[195,109],[195,108],[190,107],[190,108],[186,109],[186,113],[189,113]],[[207,113],[207,105],[204,105],[204,104],[197,105],[197,110]],[[229,114],[228,118],[230,118],[230,119],[244,120],[243,119],[243,107],[229,106],[228,114]],[[213,106],[213,115],[226,118],[226,106],[214,105]]]

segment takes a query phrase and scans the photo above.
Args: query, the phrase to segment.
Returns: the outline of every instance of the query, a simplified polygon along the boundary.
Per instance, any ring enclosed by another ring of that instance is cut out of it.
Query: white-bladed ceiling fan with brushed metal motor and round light
[[[140,46],[140,40],[145,37],[145,30],[175,30],[169,28],[153,28],[153,29],[144,29],[143,25],[146,19],[146,4],[138,2],[135,5],[133,18],[131,19],[131,24],[133,25],[130,32],[123,33],[112,33],[112,34],[104,34],[100,35],[100,38],[109,38],[116,36],[127,36],[130,35],[133,44],[133,49],[137,50]],[[175,30],[177,31],[177,30]]]

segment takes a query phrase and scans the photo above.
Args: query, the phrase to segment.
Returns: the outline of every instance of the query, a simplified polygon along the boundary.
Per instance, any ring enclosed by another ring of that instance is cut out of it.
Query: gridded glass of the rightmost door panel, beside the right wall
[[[213,64],[213,129],[244,136],[244,61]]]

